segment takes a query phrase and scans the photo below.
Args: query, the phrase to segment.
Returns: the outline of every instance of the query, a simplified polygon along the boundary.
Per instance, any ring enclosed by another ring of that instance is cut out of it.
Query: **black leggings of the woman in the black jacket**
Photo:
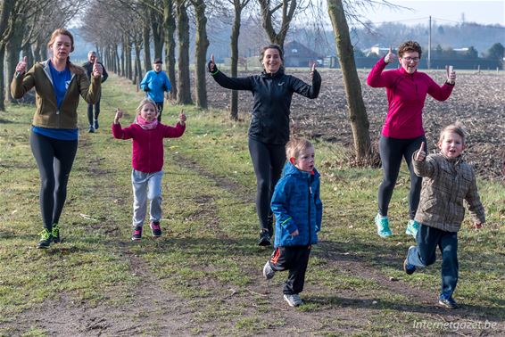
[[[256,212],[261,229],[271,230],[270,201],[286,163],[286,148],[284,144],[265,144],[249,138],[249,152],[256,175]]]

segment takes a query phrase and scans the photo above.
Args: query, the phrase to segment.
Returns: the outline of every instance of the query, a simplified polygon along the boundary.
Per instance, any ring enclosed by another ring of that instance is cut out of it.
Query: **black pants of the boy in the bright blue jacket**
[[[309,255],[310,246],[277,247],[273,252],[270,267],[275,271],[289,270],[283,290],[286,295],[302,292]]]

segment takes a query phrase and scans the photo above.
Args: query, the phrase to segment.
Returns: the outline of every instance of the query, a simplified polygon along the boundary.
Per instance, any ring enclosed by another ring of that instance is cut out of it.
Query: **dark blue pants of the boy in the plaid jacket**
[[[426,267],[435,263],[436,246],[442,252],[442,289],[440,296],[448,299],[458,284],[458,233],[419,226],[416,238],[418,246],[409,250],[407,263],[416,267]]]

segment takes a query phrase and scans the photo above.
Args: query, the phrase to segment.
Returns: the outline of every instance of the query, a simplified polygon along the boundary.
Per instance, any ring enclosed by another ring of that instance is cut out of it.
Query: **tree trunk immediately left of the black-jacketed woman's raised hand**
[[[203,0],[193,1],[196,16],[196,41],[195,41],[195,85],[196,106],[207,109],[207,82],[206,63],[209,39],[207,38],[207,17],[205,16],[205,3]]]

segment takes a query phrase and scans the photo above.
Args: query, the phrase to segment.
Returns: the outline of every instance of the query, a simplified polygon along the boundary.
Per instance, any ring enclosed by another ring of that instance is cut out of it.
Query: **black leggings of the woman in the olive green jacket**
[[[54,139],[31,131],[29,143],[40,173],[42,221],[51,231],[60,219],[67,198],[67,183],[78,141]]]

